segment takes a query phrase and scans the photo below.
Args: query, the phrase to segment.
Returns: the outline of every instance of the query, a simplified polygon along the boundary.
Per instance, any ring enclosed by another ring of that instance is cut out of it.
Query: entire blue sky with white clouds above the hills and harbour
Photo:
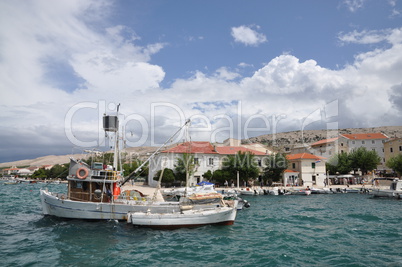
[[[1,1],[0,162],[129,145],[401,125],[402,3]],[[245,131],[247,128],[249,131]],[[178,140],[176,140],[178,141]]]

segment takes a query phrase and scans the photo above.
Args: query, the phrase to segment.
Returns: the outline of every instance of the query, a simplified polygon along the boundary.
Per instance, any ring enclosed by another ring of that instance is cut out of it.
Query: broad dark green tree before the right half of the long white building
[[[250,152],[238,152],[235,156],[229,155],[223,161],[222,170],[228,174],[230,180],[237,180],[237,172],[243,180],[255,179],[260,174],[258,160]]]

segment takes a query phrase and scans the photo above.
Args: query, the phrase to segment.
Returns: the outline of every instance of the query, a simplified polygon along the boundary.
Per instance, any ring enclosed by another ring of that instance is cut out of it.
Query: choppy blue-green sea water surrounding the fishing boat
[[[44,217],[39,189],[0,183],[0,266],[402,266],[402,201],[250,196],[232,226],[157,231]]]

